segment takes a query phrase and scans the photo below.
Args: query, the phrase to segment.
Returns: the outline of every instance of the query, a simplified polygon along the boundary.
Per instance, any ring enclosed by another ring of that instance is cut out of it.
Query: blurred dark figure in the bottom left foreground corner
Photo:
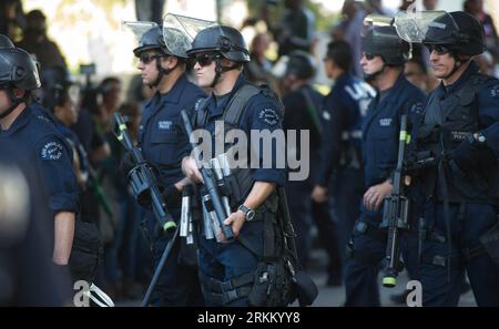
[[[69,273],[52,261],[49,196],[31,164],[0,138],[0,306],[61,307],[72,300]]]

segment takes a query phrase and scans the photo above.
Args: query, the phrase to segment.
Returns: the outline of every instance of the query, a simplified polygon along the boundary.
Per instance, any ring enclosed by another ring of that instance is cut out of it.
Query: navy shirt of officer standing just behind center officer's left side
[[[206,94],[183,74],[165,94],[155,93],[145,105],[139,130],[139,146],[146,161],[160,173],[161,184],[175,184],[184,176],[182,158],[191,152],[180,116],[192,111]]]

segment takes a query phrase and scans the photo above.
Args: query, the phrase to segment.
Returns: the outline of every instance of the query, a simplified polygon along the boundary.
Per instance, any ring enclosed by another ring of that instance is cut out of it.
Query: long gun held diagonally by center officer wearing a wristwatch
[[[196,163],[198,163],[200,172],[201,172],[201,175],[203,176],[204,187],[207,191],[206,196],[210,197],[208,203],[205,203],[206,207],[207,208],[213,207],[213,210],[216,214],[216,220],[218,222],[220,227],[222,228],[222,232],[223,232],[225,238],[227,239],[227,241],[233,241],[235,237],[234,237],[234,233],[232,232],[232,227],[230,225],[224,224],[225,218],[227,218],[230,214],[226,214],[224,204],[222,202],[222,197],[220,196],[220,193],[217,191],[217,183],[216,183],[215,175],[204,164],[200,164],[201,153],[197,147],[198,146],[197,143],[191,140],[193,128],[192,128],[191,120],[190,120],[187,113],[185,112],[185,110],[181,111],[181,116],[182,116],[182,121],[184,123],[185,132],[186,132],[189,141],[191,143],[191,147],[194,152],[194,160],[196,161]]]

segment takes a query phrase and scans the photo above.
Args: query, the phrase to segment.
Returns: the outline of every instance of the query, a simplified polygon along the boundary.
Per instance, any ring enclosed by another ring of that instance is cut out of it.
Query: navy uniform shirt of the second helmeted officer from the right
[[[365,186],[385,182],[397,164],[400,116],[421,109],[425,94],[400,74],[383,100],[369,104],[363,126]]]

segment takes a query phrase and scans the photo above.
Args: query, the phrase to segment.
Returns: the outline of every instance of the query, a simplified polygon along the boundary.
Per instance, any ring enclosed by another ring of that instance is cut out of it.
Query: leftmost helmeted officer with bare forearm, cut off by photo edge
[[[67,266],[78,212],[78,189],[71,150],[53,125],[34,115],[30,94],[40,88],[37,65],[20,48],[0,48],[0,138],[17,147],[12,158],[37,167],[50,195],[54,218],[53,263]]]

